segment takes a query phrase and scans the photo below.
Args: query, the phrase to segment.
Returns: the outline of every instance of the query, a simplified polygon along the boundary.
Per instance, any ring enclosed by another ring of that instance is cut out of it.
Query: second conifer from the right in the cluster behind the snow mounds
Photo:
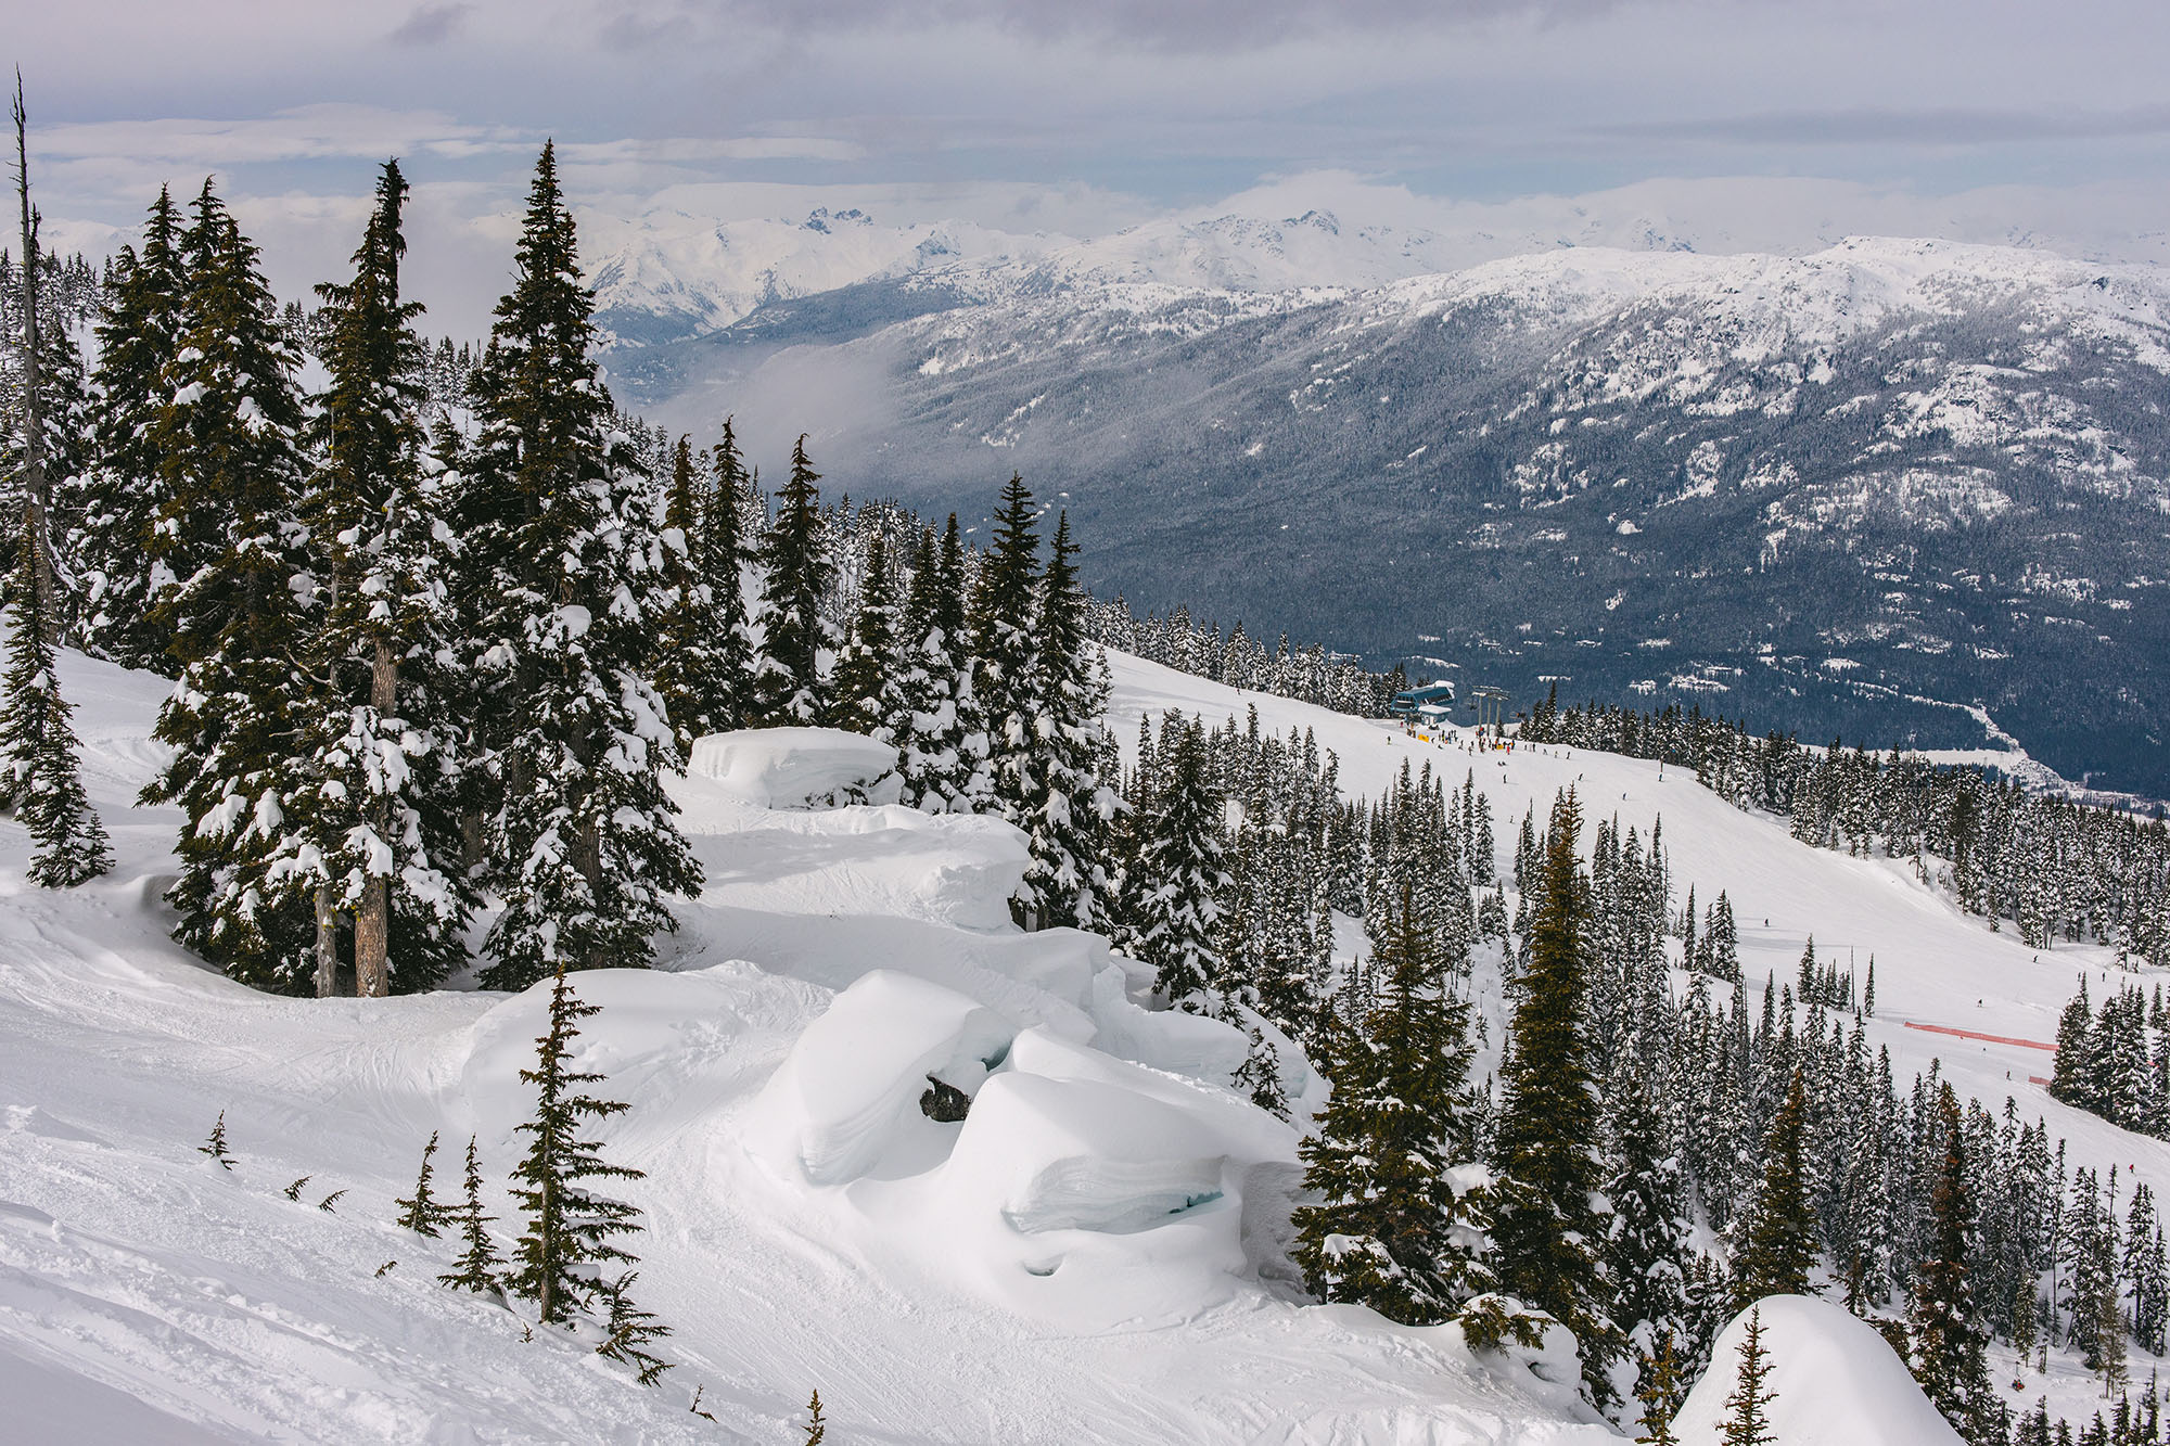
[[[1035,688],[1039,638],[1035,588],[1039,534],[1033,493],[1011,473],[994,510],[994,543],[981,560],[966,623],[972,638],[972,701],[987,736],[987,806],[1024,827],[1033,801],[1033,753],[1042,699]]]

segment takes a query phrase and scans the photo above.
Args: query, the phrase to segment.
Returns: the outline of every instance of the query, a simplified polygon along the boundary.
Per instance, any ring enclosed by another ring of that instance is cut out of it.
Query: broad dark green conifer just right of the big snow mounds
[[[1315,1296],[1432,1324],[1493,1285],[1484,1203],[1456,1183],[1476,1155],[1469,1005],[1406,888],[1371,962],[1387,988],[1363,1027],[1332,1029],[1332,1096],[1298,1149],[1322,1201],[1295,1209],[1293,1255]]]

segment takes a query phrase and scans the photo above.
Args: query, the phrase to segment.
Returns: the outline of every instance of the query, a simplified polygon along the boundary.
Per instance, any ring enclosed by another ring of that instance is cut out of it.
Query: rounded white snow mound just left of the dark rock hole
[[[864,975],[792,1044],[762,1090],[751,1144],[814,1185],[868,1175],[914,1120],[940,1129],[918,1109],[929,1077],[972,1094],[1013,1033],[957,990]]]

